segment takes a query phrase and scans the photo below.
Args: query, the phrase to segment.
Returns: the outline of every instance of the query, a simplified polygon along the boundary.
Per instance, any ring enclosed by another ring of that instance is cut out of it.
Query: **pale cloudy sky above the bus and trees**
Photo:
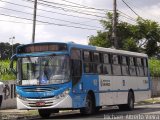
[[[11,44],[32,42],[33,1],[0,0],[0,42]],[[160,0],[124,1],[139,16],[160,22]],[[96,35],[97,30],[105,31],[99,20],[104,19],[105,13],[113,9],[113,0],[38,0],[38,2],[35,42],[72,41],[88,44],[89,36]],[[123,15],[120,21],[135,24],[137,15],[122,0],[117,0],[117,9]]]

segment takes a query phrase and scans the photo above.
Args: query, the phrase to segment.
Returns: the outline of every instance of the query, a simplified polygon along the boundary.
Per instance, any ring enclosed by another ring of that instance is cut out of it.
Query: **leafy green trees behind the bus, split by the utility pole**
[[[112,14],[107,13],[106,19],[101,20],[100,23],[107,32],[98,31],[96,36],[92,35],[89,38],[89,44],[111,47]],[[160,26],[157,22],[142,18],[138,18],[137,24],[134,25],[120,21],[117,24],[117,39],[119,49],[156,56],[160,51]]]

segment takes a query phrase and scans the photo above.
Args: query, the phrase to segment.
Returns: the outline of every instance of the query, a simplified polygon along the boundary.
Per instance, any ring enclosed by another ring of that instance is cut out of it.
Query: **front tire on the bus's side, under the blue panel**
[[[80,113],[84,115],[91,115],[95,112],[95,100],[94,96],[88,94],[86,97],[85,107],[80,109]]]

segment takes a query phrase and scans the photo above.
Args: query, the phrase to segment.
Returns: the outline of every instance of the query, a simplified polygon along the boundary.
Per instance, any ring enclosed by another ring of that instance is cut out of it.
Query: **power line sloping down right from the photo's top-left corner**
[[[21,4],[16,4],[16,3],[13,3],[13,2],[7,2],[7,1],[3,1],[3,0],[0,0],[0,2],[8,3],[8,4],[19,6],[19,7],[25,7],[25,8],[33,9],[33,7],[29,7],[29,6],[21,5]],[[76,15],[54,12],[54,11],[44,10],[44,9],[39,9],[39,8],[37,10],[52,13],[52,14],[59,14],[59,15],[64,15],[64,16],[69,16],[69,17],[81,18],[81,19],[88,19],[88,20],[94,20],[94,21],[99,21],[100,20],[100,19],[96,19],[96,18],[80,17],[80,16],[76,16]]]

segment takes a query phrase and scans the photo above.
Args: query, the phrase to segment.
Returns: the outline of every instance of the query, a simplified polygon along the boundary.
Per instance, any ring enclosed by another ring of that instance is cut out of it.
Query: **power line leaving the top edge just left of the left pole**
[[[34,2],[32,0],[23,0],[23,1],[27,1],[27,2]],[[64,8],[64,7],[58,7],[58,6],[54,6],[54,5],[50,5],[50,4],[45,4],[45,3],[41,3],[41,2],[38,2],[38,4],[42,5],[42,6],[48,6],[48,7],[51,7],[51,8],[58,8],[58,9],[61,9],[63,11],[67,11],[67,12],[74,12],[74,13],[78,13],[78,14],[84,14],[84,15],[89,15],[89,16],[94,16],[94,17],[98,17],[98,18],[105,18],[105,16],[100,16],[100,15],[95,15],[95,14],[90,14],[90,13],[85,13],[83,11],[76,11],[76,10],[73,10],[73,9],[68,9],[68,8]]]

